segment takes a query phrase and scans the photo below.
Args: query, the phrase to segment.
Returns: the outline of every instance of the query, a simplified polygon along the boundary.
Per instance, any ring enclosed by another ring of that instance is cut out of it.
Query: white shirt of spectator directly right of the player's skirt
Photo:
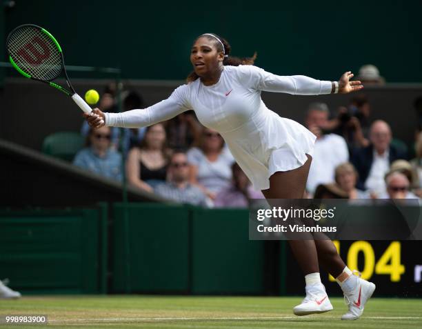
[[[306,188],[314,193],[319,184],[332,183],[334,170],[349,161],[348,145],[338,134],[325,134],[316,139]]]

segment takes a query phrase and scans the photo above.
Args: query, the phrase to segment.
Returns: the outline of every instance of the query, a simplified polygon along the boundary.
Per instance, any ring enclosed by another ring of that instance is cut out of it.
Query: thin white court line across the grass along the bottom
[[[221,320],[286,320],[299,319],[299,317],[110,317],[103,319],[66,319],[66,320],[48,320],[49,323],[67,323],[67,322],[106,322],[106,321],[221,321]],[[305,319],[300,317],[300,319]],[[340,319],[340,317],[308,317],[306,319]],[[422,317],[365,317],[362,319],[375,320],[421,320]]]

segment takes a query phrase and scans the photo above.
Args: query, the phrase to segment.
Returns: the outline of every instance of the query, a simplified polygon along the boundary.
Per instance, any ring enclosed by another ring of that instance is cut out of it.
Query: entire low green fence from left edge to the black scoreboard
[[[110,240],[107,214],[1,211],[0,277],[24,294],[263,294],[263,241],[249,241],[248,210],[114,203]]]

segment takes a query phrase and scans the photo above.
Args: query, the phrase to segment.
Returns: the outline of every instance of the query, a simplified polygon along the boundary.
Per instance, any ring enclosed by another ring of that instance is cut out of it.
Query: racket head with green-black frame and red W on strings
[[[63,70],[63,54],[56,39],[34,24],[14,28],[6,39],[10,63],[23,76],[39,81],[52,81]]]

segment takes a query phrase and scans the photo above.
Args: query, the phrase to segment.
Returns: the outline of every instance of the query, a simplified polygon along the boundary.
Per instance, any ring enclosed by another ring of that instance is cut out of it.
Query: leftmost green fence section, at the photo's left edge
[[[24,294],[106,292],[105,207],[0,211],[0,277]]]

